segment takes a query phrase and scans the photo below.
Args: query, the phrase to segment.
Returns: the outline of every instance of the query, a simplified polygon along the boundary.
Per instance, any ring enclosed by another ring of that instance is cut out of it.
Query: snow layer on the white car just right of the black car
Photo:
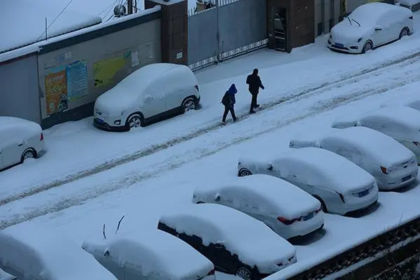
[[[223,183],[203,184],[194,191],[197,196],[209,198],[216,195],[223,197],[228,193],[234,193],[239,200],[244,197],[255,202],[266,214],[281,214],[290,219],[321,207],[320,202],[304,190],[288,181],[265,174],[233,177]]]

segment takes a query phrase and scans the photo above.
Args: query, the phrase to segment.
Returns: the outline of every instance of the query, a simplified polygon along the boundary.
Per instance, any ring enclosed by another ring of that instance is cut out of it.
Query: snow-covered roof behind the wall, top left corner
[[[83,27],[96,25],[102,19],[58,5],[55,1],[6,1],[1,6],[0,53],[45,39],[45,18],[48,38],[68,33]],[[82,7],[79,7],[82,8]],[[59,15],[57,17],[57,15]],[[57,18],[57,20],[55,20]],[[55,20],[55,22],[53,22]]]

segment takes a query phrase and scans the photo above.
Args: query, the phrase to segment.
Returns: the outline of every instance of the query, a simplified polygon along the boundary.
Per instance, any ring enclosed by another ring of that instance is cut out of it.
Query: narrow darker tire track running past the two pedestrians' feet
[[[295,94],[290,94],[287,97],[282,97],[281,99],[277,99],[274,102],[268,102],[266,104],[261,104],[260,111],[266,109],[272,109],[279,104],[283,104],[285,102],[296,102],[300,100],[302,97],[311,97],[316,94],[321,94],[324,90],[331,90],[332,88],[340,88],[344,87],[345,85],[349,85],[352,83],[358,83],[360,80],[372,78],[375,76],[379,76],[381,73],[391,71],[393,68],[402,68],[407,66],[408,64],[413,64],[420,60],[420,52],[415,52],[412,55],[407,57],[403,57],[400,59],[393,59],[389,60],[388,62],[383,62],[380,65],[375,65],[367,69],[363,69],[363,71],[358,71],[353,73],[347,77],[340,77],[335,78],[334,80],[330,80],[328,82],[322,83],[320,85],[316,85],[314,87],[309,87],[305,90],[297,92]],[[237,113],[237,117],[239,121],[246,120],[248,118],[248,113]],[[205,127],[201,127],[200,129],[194,130],[190,134],[186,134],[183,137],[177,137],[174,139],[170,139],[169,141],[165,141],[162,144],[156,144],[153,146],[149,146],[148,148],[144,148],[141,151],[137,151],[132,153],[131,155],[127,155],[123,158],[118,158],[110,161],[104,162],[102,165],[97,165],[92,169],[87,169],[83,172],[78,172],[76,174],[71,174],[69,176],[64,177],[63,179],[55,180],[50,183],[34,186],[31,190],[26,190],[22,193],[17,193],[10,195],[8,197],[3,197],[0,200],[0,207],[4,204],[8,204],[10,202],[14,202],[17,200],[22,200],[25,197],[29,197],[31,195],[36,195],[41,193],[45,190],[50,190],[52,188],[57,188],[62,186],[66,183],[71,183],[73,181],[77,181],[79,179],[83,179],[87,176],[91,176],[94,174],[98,174],[100,172],[104,172],[108,169],[112,169],[113,167],[117,167],[119,165],[123,165],[127,162],[131,162],[133,160],[138,160],[139,158],[144,158],[148,155],[153,155],[154,153],[158,153],[162,150],[165,150],[171,146],[176,144],[181,144],[183,142],[189,141],[196,137],[200,137],[203,134],[221,129],[223,125],[220,124],[220,120],[218,118],[214,119],[214,123],[212,125],[207,125]]]

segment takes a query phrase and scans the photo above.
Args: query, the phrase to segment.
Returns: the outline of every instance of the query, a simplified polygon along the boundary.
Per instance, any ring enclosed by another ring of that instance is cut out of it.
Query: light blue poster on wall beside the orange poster
[[[79,60],[66,66],[67,97],[72,102],[87,95],[86,60]]]

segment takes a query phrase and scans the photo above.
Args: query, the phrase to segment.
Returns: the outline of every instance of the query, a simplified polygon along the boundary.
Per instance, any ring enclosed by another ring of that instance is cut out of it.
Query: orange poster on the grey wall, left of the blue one
[[[48,116],[68,108],[65,66],[48,69],[45,73],[45,102]]]

